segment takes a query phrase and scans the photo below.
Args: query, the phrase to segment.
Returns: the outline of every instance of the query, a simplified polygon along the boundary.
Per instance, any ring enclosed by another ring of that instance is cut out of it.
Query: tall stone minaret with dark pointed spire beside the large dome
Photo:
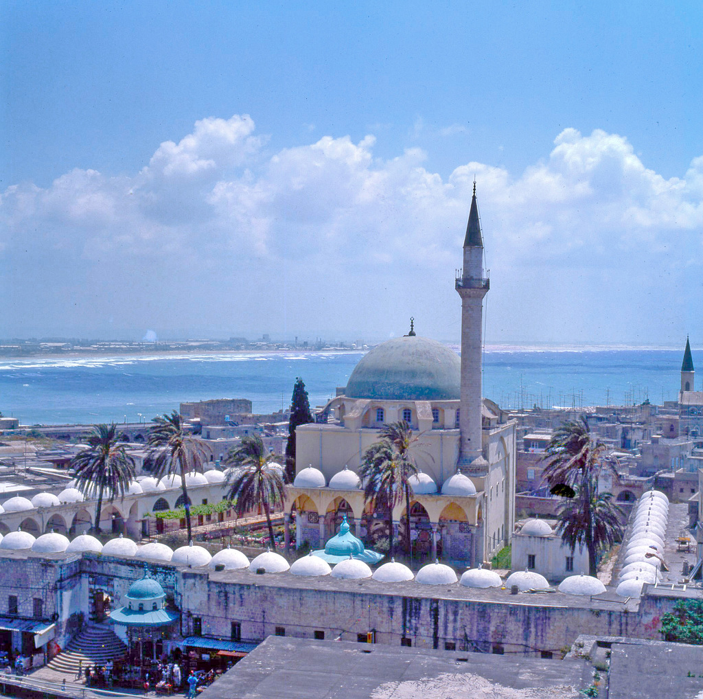
[[[482,456],[481,444],[481,359],[483,298],[489,290],[483,276],[483,240],[476,203],[476,182],[471,199],[469,222],[464,238],[464,268],[456,276],[461,297],[461,392],[459,413],[459,463],[470,466]],[[475,466],[485,466],[483,458]]]

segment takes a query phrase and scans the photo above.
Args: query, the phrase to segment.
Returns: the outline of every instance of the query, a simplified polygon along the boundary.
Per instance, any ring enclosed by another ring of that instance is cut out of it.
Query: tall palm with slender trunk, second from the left
[[[188,499],[186,473],[200,470],[205,450],[199,440],[186,432],[186,426],[179,411],[170,415],[164,413],[153,419],[155,427],[149,432],[148,446],[154,458],[157,477],[169,473],[181,476],[183,504],[186,508],[188,541],[193,539],[191,527],[191,501]]]

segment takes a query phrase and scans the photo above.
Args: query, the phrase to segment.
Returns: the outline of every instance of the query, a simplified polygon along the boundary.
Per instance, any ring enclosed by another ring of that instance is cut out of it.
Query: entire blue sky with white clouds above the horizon
[[[698,2],[0,0],[0,338],[703,344]],[[147,335],[147,333],[150,333]]]

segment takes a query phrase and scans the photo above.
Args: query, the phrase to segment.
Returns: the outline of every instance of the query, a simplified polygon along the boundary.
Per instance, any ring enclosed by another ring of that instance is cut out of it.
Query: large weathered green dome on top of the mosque
[[[436,340],[406,336],[382,342],[349,377],[345,395],[377,400],[458,400],[459,355]]]

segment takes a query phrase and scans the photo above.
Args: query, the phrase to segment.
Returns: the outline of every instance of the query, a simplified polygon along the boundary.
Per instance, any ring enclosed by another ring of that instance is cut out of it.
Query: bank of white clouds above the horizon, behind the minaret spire
[[[97,328],[114,315],[114,327],[160,335],[253,333],[268,314],[269,329],[387,335],[414,314],[423,332],[456,337],[451,276],[474,176],[494,339],[585,339],[598,314],[604,339],[666,314],[660,328],[688,323],[676,304],[700,273],[703,156],[666,179],[623,136],[565,129],[522,173],[468,162],[443,180],[418,148],[375,157],[371,135],[264,155],[254,130],[247,115],[207,118],[131,177],[74,169],[45,189],[7,188],[0,255],[16,312],[0,331],[21,334],[27,316]],[[642,302],[652,290],[661,308]],[[564,323],[579,295],[588,317]],[[683,296],[700,307],[699,291]]]

